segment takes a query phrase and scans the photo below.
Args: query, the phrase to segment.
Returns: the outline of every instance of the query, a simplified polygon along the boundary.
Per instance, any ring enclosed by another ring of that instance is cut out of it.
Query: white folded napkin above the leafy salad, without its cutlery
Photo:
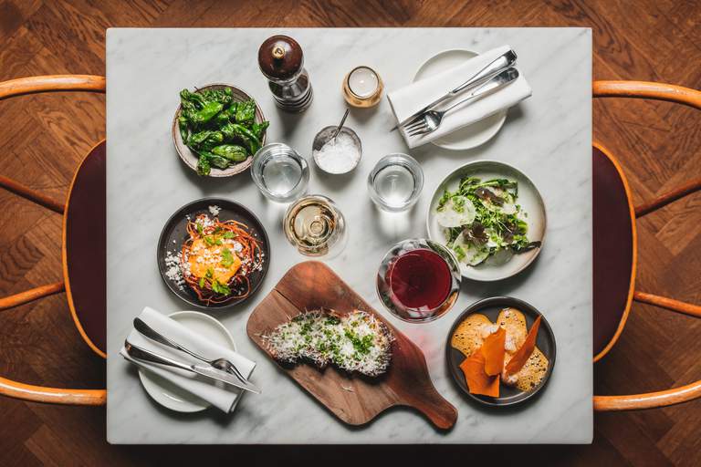
[[[480,54],[477,57],[466,60],[465,63],[457,67],[447,69],[433,77],[421,79],[413,84],[397,89],[387,94],[390,101],[394,117],[397,121],[406,119],[419,109],[433,102],[435,99],[445,95],[451,89],[463,84],[472,75],[475,75],[483,67],[500,55],[505,54],[511,47],[497,47]],[[519,70],[520,71],[520,70]],[[520,76],[506,87],[498,89],[483,97],[471,101],[465,106],[459,106],[445,115],[441,126],[437,130],[426,135],[409,136],[406,131],[400,129],[406,144],[410,148],[421,146],[429,141],[436,140],[475,123],[478,120],[486,119],[494,115],[501,109],[508,109],[516,105],[519,101],[530,97],[532,91],[526,78],[521,73]],[[458,94],[450,100],[442,103],[437,110],[446,109],[451,104],[466,98],[466,93]]]

